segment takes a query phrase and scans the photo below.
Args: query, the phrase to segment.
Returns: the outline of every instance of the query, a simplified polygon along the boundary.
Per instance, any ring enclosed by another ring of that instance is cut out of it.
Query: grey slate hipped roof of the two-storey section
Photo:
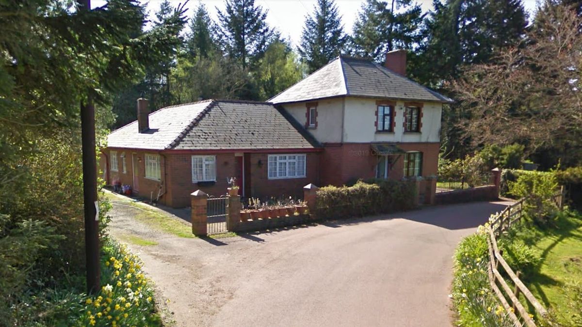
[[[346,95],[453,102],[452,99],[373,61],[348,56],[339,56],[268,101],[284,104]]]

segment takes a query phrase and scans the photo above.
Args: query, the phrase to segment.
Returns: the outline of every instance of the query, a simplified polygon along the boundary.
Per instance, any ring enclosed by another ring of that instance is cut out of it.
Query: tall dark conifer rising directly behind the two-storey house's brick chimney
[[[420,5],[412,0],[367,0],[354,23],[353,52],[384,62],[388,51],[412,49],[421,41],[423,18]]]

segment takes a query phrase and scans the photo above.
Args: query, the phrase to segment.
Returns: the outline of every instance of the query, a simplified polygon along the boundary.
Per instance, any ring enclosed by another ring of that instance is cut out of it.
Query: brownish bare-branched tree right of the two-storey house
[[[574,10],[548,6],[524,47],[467,67],[453,89],[468,113],[460,127],[473,143],[520,143],[528,154],[555,153],[553,164],[582,162],[580,23]]]

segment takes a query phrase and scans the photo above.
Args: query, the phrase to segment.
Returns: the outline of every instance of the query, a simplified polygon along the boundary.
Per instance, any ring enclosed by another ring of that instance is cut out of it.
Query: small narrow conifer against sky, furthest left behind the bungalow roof
[[[208,58],[216,47],[213,35],[217,27],[203,3],[196,8],[196,13],[190,19],[189,33],[186,35],[186,51],[192,57]]]

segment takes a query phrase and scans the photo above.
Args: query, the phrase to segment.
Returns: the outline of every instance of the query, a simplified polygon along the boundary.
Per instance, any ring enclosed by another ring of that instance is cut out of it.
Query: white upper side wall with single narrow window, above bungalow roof
[[[317,128],[310,128],[308,131],[321,143],[340,143],[342,141],[343,103],[343,98],[317,101]],[[286,104],[283,105],[283,108],[301,125],[306,125],[306,102]]]

